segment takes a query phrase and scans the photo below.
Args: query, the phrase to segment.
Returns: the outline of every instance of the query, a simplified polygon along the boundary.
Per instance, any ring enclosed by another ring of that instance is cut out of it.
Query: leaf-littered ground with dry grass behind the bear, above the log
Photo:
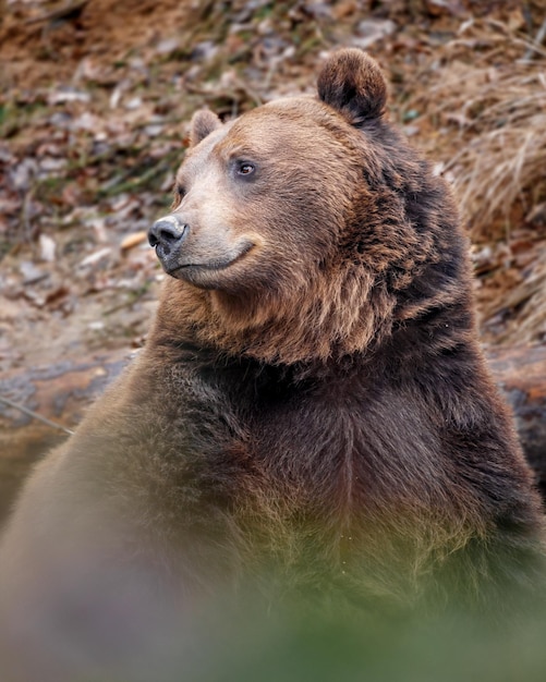
[[[390,117],[453,183],[484,342],[546,340],[541,0],[0,7],[0,374],[139,346],[162,279],[145,231],[193,111],[313,92],[341,46],[378,59]]]

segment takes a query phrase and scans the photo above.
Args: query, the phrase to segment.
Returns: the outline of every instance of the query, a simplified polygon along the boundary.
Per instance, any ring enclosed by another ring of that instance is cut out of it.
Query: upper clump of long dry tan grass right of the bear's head
[[[412,106],[451,131],[436,153],[474,238],[490,238],[499,218],[510,227],[517,205],[520,216],[546,199],[546,50],[483,21],[463,26],[435,58]]]

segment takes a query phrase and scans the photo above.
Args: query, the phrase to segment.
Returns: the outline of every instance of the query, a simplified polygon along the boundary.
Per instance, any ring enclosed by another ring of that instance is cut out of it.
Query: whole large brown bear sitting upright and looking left
[[[386,98],[351,49],[318,97],[194,115],[149,231],[170,277],[146,348],[3,537],[25,680],[112,660],[139,679],[238,590],[482,604],[535,580],[539,501],[480,350],[466,240]]]

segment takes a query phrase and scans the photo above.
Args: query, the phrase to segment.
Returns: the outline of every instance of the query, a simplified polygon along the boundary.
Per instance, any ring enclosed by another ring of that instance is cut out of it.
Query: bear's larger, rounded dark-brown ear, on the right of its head
[[[387,103],[387,83],[377,62],[361,50],[339,50],[323,66],[318,97],[352,125],[378,119]]]

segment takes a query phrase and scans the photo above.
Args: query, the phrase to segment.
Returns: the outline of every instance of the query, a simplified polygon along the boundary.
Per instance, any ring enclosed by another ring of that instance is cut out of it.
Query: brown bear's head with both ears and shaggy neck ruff
[[[400,292],[453,251],[449,192],[386,120],[368,56],[335,53],[317,89],[225,124],[194,114],[174,205],[149,231],[172,278],[161,309],[173,333],[191,326],[269,362],[325,361],[428,305],[426,292],[405,304]]]

